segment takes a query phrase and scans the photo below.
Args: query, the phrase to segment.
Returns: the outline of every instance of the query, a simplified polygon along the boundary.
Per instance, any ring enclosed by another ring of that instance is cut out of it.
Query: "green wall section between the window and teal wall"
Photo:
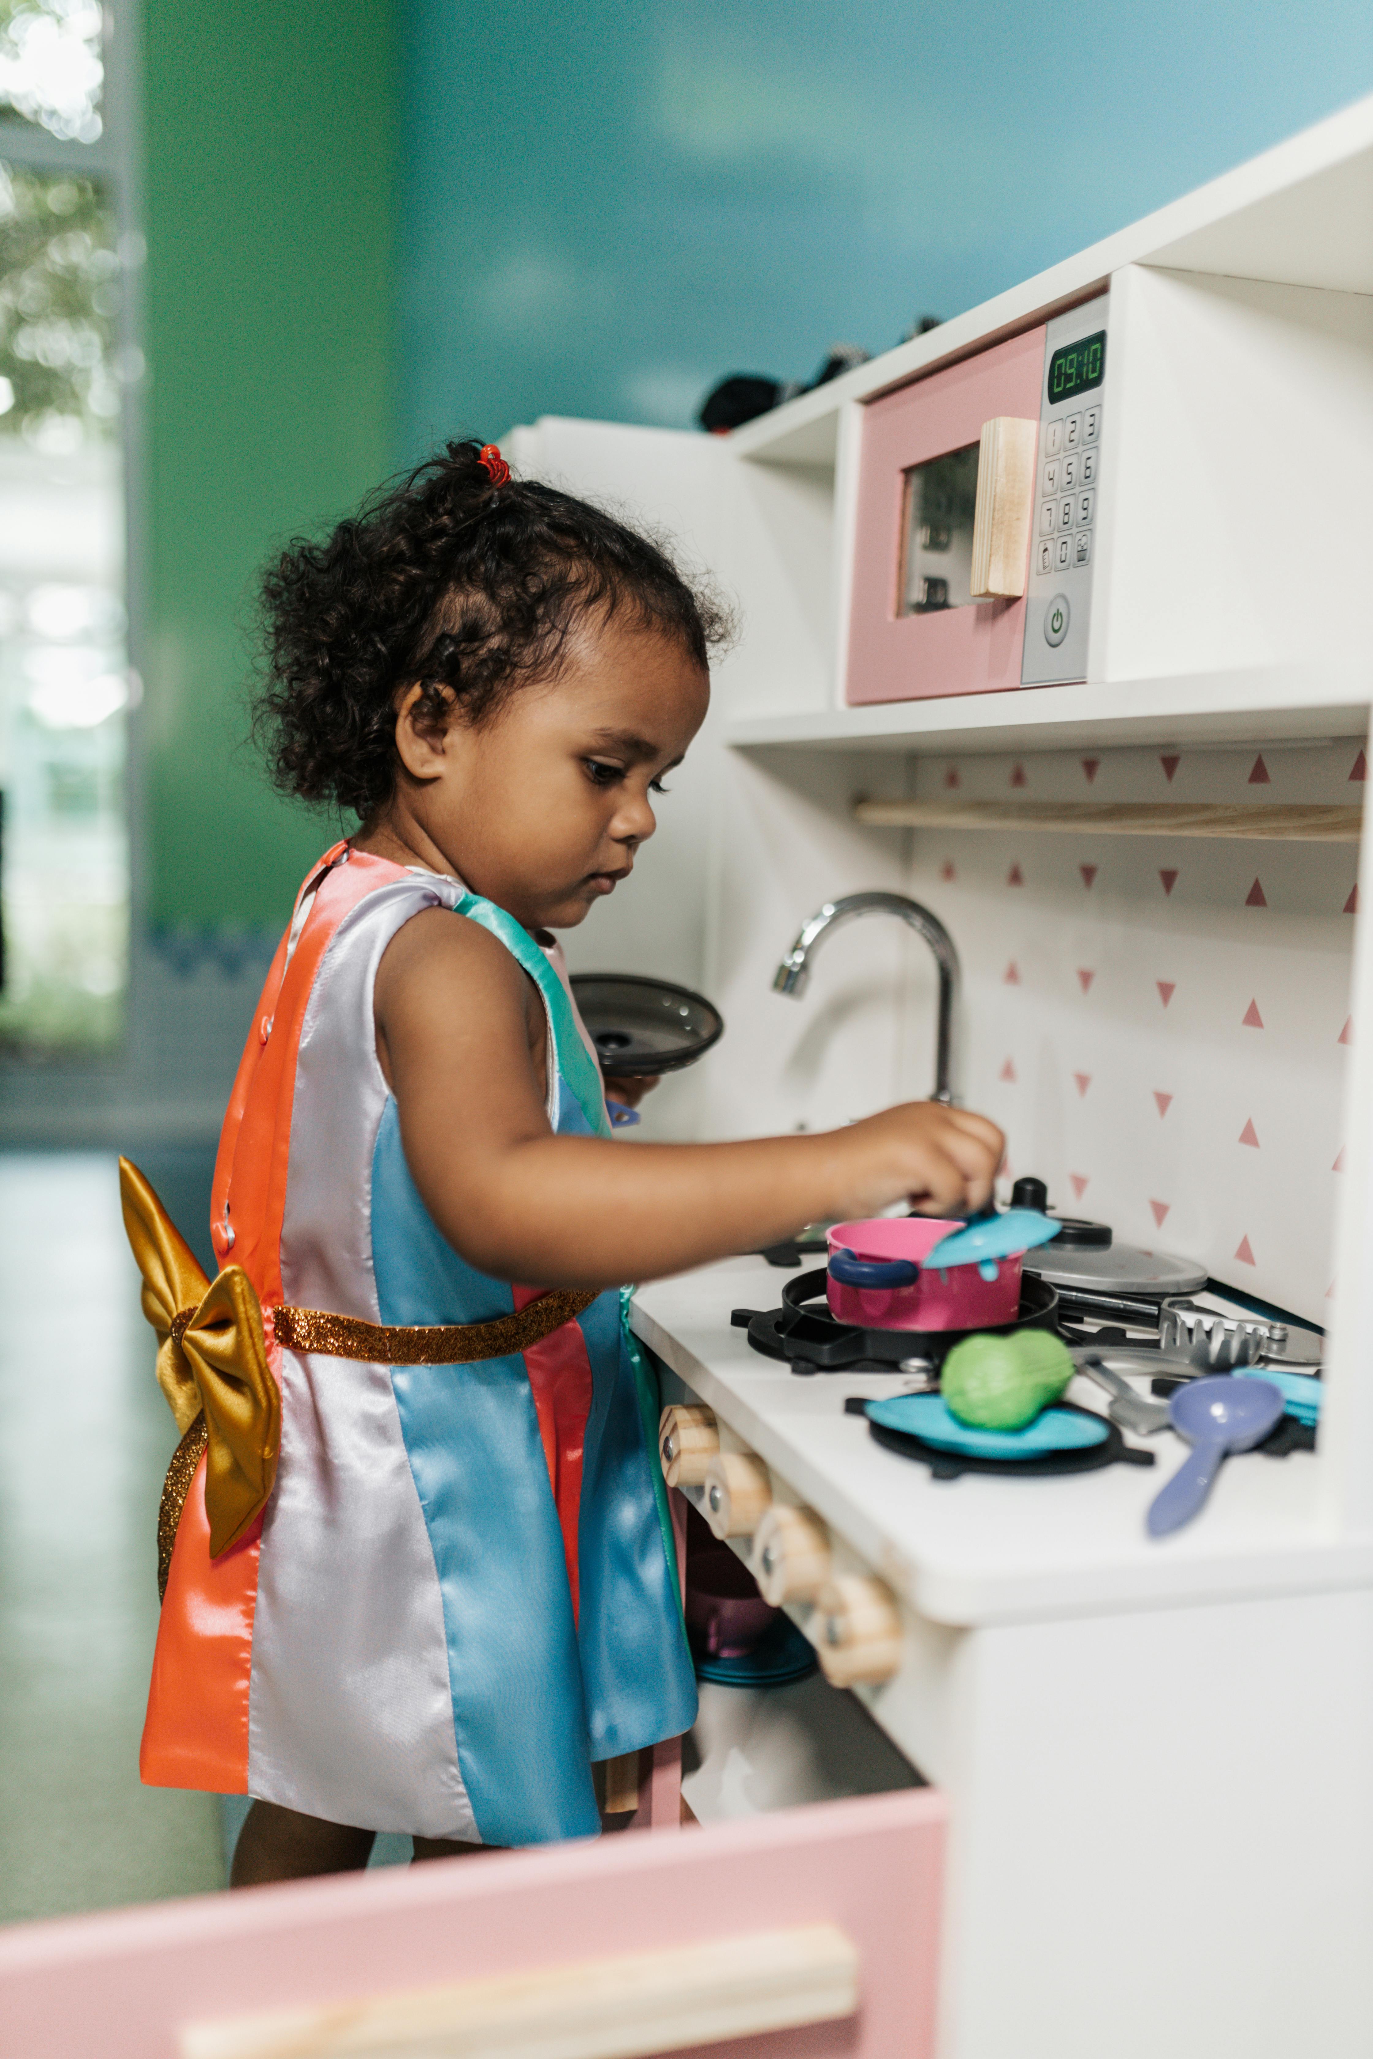
[[[327,819],[245,743],[253,577],[393,465],[391,0],[144,0],[148,914],[280,927]]]

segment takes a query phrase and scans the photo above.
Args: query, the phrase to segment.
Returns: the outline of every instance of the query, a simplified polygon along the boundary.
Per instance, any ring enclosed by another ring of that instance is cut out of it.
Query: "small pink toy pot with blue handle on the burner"
[[[830,1314],[862,1330],[994,1330],[1002,1322],[1015,1322],[1023,1252],[1000,1258],[990,1281],[982,1279],[978,1266],[949,1266],[947,1272],[924,1268],[924,1254],[941,1237],[965,1227],[928,1215],[836,1223],[828,1233]],[[848,1281],[836,1277],[836,1254],[840,1272],[850,1272]],[[844,1254],[852,1254],[856,1264],[848,1264]],[[867,1277],[854,1281],[854,1272]]]

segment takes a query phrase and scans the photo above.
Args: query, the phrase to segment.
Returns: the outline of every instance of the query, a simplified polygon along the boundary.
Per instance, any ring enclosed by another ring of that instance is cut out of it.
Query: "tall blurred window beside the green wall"
[[[128,819],[117,175],[103,14],[0,0],[0,1046],[124,1025]]]

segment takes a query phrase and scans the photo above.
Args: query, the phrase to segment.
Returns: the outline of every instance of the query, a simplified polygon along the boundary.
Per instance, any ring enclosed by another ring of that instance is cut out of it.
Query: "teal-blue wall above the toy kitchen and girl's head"
[[[406,451],[685,426],[1373,89],[1369,0],[406,0]]]

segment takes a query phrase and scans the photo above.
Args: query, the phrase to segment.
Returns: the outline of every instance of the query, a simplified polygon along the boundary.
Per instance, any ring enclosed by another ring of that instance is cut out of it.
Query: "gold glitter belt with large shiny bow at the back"
[[[282,1396],[268,1365],[263,1310],[243,1266],[208,1281],[152,1186],[119,1159],[124,1227],[142,1272],[142,1312],[156,1332],[156,1377],[177,1445],[156,1522],[159,1594],[185,1495],[206,1452],[210,1557],[237,1544],[272,1493],[282,1447]],[[556,1289],[513,1316],[434,1326],[377,1324],[317,1307],[270,1307],[288,1351],[364,1365],[476,1365],[541,1342],[597,1299],[597,1289]]]

